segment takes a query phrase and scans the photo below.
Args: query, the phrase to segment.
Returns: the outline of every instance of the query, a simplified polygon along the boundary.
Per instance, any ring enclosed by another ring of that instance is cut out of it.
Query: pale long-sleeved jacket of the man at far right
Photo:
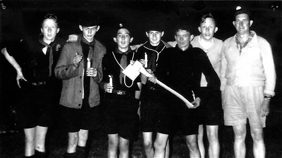
[[[241,50],[235,42],[235,35],[226,39],[221,50],[221,87],[236,86],[263,86],[264,94],[275,95],[276,72],[271,46],[266,39],[254,37]]]

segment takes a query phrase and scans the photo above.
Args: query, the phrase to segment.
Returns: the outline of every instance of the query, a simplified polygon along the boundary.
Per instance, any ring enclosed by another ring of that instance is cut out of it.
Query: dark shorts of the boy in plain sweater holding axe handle
[[[175,128],[179,128],[184,136],[198,133],[198,109],[188,109],[181,102],[173,105],[178,110],[167,110],[158,113],[157,132],[171,134]]]

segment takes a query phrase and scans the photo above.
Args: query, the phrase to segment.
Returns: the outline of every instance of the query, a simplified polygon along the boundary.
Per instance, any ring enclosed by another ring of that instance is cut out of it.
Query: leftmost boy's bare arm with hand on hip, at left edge
[[[16,60],[14,59],[14,57],[10,56],[9,53],[7,52],[7,49],[4,48],[1,50],[2,54],[5,56],[5,58],[7,59],[7,61],[14,67],[14,69],[16,70],[16,82],[19,88],[21,88],[21,86],[19,85],[19,80],[23,79],[25,81],[27,81],[23,75],[22,72],[22,67],[19,66],[19,64],[16,62]]]

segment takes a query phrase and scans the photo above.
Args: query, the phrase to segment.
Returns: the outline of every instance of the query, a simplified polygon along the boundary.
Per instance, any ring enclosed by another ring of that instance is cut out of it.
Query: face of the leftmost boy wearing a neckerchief
[[[42,23],[41,32],[43,34],[43,41],[50,43],[54,41],[59,32],[58,25],[54,19],[45,19]]]

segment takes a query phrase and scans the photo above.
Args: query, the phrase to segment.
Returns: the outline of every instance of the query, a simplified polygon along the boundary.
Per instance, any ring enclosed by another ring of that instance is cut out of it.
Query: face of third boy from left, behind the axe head
[[[133,37],[130,37],[129,31],[123,28],[117,30],[116,37],[114,37],[113,40],[117,43],[117,47],[119,49],[127,49],[129,47],[129,43],[132,42]]]

